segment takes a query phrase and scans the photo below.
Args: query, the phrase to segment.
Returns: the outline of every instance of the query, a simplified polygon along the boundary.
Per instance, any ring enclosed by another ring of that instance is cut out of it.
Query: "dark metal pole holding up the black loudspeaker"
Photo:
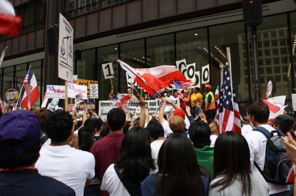
[[[254,89],[255,100],[260,100],[260,73],[259,73],[259,53],[257,45],[257,27],[252,27],[252,55],[253,55],[253,75],[254,75]]]

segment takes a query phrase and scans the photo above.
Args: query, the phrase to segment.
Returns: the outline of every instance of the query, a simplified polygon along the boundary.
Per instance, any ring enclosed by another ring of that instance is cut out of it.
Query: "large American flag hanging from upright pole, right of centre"
[[[226,60],[225,67],[221,68],[221,89],[219,97],[219,132],[235,131],[241,133],[240,113],[238,109],[236,94],[232,88],[229,64]]]

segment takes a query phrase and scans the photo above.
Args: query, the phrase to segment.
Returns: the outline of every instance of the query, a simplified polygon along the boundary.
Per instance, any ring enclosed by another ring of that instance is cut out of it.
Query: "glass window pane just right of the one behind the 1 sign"
[[[169,53],[169,52],[168,52]],[[149,66],[149,59],[145,59],[144,39],[124,42],[120,44],[120,59],[134,68],[145,68]],[[120,71],[120,90],[121,93],[126,93],[127,81],[126,71]],[[134,92],[134,94],[136,94]]]

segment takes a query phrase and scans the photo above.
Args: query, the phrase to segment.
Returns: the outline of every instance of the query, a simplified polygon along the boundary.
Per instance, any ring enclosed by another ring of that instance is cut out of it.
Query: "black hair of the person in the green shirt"
[[[205,122],[195,121],[190,124],[188,134],[195,148],[203,148],[211,144],[211,128]]]

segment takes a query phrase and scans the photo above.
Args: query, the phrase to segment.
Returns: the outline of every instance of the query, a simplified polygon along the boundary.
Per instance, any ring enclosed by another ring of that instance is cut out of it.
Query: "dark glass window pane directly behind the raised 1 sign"
[[[110,46],[104,46],[97,49],[97,55],[98,55],[98,84],[99,84],[99,100],[107,100],[108,99],[108,93],[111,92],[111,80],[113,84],[113,91],[114,94],[118,92],[118,64],[114,60],[115,56],[118,56],[118,45],[110,45]],[[112,62],[113,64],[113,71],[114,71],[114,78],[111,80],[105,80],[104,73],[102,70],[102,64]],[[125,76],[124,76],[125,77]],[[125,81],[125,78],[121,78],[120,81]]]

